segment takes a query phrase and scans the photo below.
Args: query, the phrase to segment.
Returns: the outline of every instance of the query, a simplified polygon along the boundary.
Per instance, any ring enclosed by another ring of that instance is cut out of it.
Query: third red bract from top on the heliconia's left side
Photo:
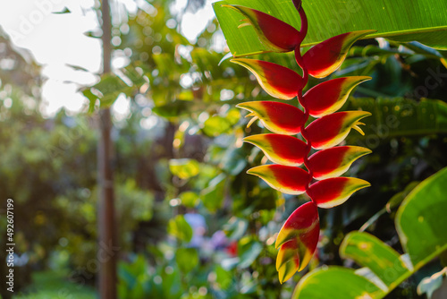
[[[248,126],[260,119],[262,124],[271,132],[294,135],[301,131],[304,124],[304,113],[298,107],[274,101],[253,101],[236,105],[249,110],[246,117],[253,116]]]

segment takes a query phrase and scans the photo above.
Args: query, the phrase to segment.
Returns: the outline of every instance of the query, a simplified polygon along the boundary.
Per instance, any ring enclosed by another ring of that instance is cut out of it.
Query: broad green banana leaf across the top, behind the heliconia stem
[[[299,13],[290,1],[225,0],[214,4],[233,56],[266,52],[251,26],[238,29],[243,16],[222,4],[239,4],[269,13],[299,29]],[[418,41],[447,49],[447,2],[439,0],[303,0],[308,15],[308,35],[303,47],[354,30],[377,30],[367,38]]]

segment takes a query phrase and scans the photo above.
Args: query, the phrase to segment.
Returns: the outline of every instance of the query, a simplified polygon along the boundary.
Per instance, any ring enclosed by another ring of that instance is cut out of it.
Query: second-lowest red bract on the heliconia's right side
[[[317,180],[342,175],[358,158],[371,153],[371,149],[343,146],[317,151],[308,158],[308,167]]]

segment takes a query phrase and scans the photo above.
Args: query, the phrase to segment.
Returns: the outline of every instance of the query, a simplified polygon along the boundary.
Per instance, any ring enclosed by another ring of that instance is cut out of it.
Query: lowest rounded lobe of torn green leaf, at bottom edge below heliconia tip
[[[382,298],[384,291],[354,269],[319,268],[299,280],[292,299],[372,299]]]

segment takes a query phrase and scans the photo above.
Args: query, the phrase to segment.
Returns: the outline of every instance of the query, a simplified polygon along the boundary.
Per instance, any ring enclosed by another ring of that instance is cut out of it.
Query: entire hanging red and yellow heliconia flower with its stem
[[[275,247],[279,248],[276,269],[280,282],[291,278],[296,271],[306,268],[316,251],[319,237],[318,209],[332,208],[347,201],[353,192],[369,186],[355,177],[340,177],[358,158],[371,152],[369,149],[341,146],[351,129],[362,133],[359,121],[370,115],[365,111],[337,112],[348,99],[350,92],[361,82],[370,78],[364,76],[337,78],[322,82],[303,95],[308,75],[323,78],[333,73],[345,59],[352,44],[374,30],[348,32],[329,38],[311,47],[304,56],[300,43],[306,36],[308,20],[300,0],[292,0],[299,11],[301,29],[244,6],[226,5],[244,15],[253,25],[258,38],[266,47],[276,52],[295,51],[297,64],[303,71],[298,73],[278,64],[254,59],[239,58],[232,62],[252,72],[266,93],[274,98],[297,97],[303,107],[293,107],[274,101],[246,102],[237,107],[249,110],[253,116],[249,125],[260,119],[267,130],[276,134],[259,134],[244,141],[262,149],[274,165],[249,169],[272,188],[288,193],[306,192],[310,202],[301,205],[285,221],[279,232]],[[316,117],[306,126],[309,115]],[[301,133],[306,140],[289,136]],[[322,149],[309,156],[310,149]],[[300,168],[304,164],[307,168]],[[316,183],[315,180],[318,180]]]

